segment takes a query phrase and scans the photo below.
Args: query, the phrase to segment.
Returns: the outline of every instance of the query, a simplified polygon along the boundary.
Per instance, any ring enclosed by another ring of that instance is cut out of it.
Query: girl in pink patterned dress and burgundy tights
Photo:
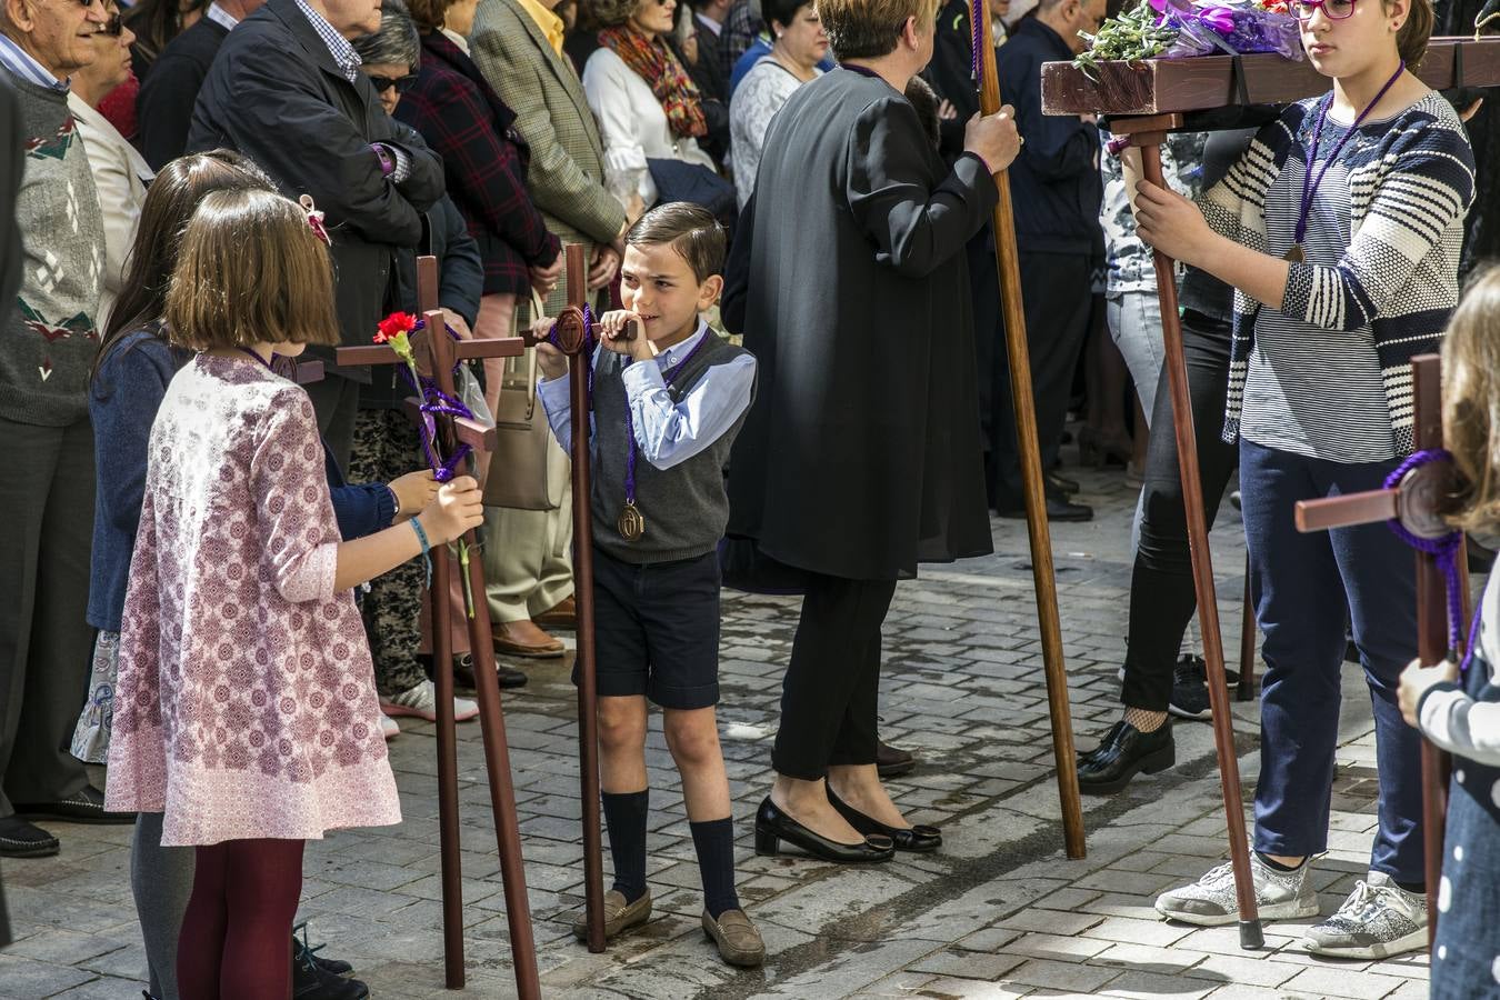
[[[204,198],[166,298],[172,379],[120,631],[106,808],[195,846],[184,999],[285,997],[308,838],[400,822],[351,588],[483,517],[471,478],[340,541],[308,394],[274,354],[336,343],[326,246],[266,190]]]

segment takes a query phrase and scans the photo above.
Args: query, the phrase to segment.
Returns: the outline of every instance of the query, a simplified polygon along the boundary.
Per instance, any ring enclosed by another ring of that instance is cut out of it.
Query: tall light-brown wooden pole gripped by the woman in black
[[[1000,76],[990,45],[990,0],[972,0],[970,16],[978,25],[980,112],[994,114],[1002,106]],[[970,27],[975,27],[970,24]],[[1011,405],[1016,411],[1016,445],[1022,462],[1026,493],[1026,534],[1030,540],[1032,588],[1036,592],[1036,625],[1041,631],[1042,669],[1047,676],[1047,711],[1052,717],[1052,753],[1058,766],[1058,799],[1062,804],[1062,837],[1068,858],[1083,858],[1083,802],[1078,798],[1078,762],[1072,747],[1072,714],[1068,709],[1068,667],[1062,655],[1062,619],[1058,613],[1056,573],[1052,562],[1052,529],[1047,523],[1047,496],[1036,442],[1036,408],[1032,400],[1030,349],[1026,345],[1026,307],[1022,300],[1022,273],[1016,249],[1016,216],[1011,208],[1011,180],[1005,171],[994,174],[999,199],[990,222],[994,226],[994,268],[1000,277],[1000,304],[1005,316],[1005,351],[1011,369]]]

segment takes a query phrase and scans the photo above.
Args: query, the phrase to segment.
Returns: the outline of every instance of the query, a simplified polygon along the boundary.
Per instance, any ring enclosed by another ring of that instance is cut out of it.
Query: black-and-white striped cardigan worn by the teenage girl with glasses
[[[1288,160],[1306,160],[1322,99],[1290,105],[1256,136],[1198,208],[1220,234],[1262,253],[1268,247],[1266,193]],[[1398,454],[1413,447],[1410,361],[1437,349],[1458,303],[1464,216],[1474,198],[1474,156],[1462,121],[1437,93],[1378,123],[1340,154],[1348,175],[1350,246],[1332,267],[1292,264],[1281,303],[1311,327],[1372,333]],[[1300,175],[1300,169],[1299,169]],[[1262,304],[1234,294],[1224,439],[1239,435],[1256,318]],[[1340,391],[1338,372],[1326,391]]]

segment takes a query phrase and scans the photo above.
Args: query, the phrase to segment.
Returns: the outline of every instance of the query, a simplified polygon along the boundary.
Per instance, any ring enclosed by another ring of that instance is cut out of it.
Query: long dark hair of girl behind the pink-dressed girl
[[[135,243],[124,261],[124,291],[110,310],[92,382],[98,384],[99,366],[128,334],[150,330],[160,336],[158,321],[166,312],[183,232],[198,202],[214,190],[276,190],[276,186],[249,157],[231,150],[194,153],[162,168],[146,192]]]

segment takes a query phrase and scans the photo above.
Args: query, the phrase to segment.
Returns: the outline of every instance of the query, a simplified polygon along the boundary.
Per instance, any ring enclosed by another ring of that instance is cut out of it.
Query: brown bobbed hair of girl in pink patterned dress
[[[166,337],[194,351],[339,343],[328,249],[270,190],[218,190],[194,211],[166,292]]]

